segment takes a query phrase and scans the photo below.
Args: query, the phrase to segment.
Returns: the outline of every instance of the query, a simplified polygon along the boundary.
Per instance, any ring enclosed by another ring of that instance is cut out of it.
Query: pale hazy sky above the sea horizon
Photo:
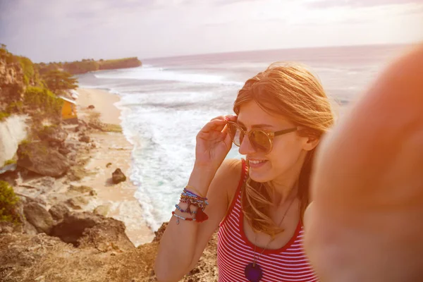
[[[0,0],[32,61],[423,41],[423,0]]]

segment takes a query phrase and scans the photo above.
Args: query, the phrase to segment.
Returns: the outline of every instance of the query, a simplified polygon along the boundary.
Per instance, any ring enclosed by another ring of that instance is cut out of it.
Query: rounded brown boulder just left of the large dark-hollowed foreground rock
[[[37,229],[38,233],[46,233],[47,235],[50,233],[53,218],[46,209],[36,202],[30,202],[25,204],[23,212],[27,221]]]

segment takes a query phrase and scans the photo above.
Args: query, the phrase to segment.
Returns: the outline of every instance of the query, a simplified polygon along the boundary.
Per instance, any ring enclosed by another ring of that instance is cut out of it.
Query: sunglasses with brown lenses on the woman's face
[[[259,128],[253,128],[250,131],[246,131],[243,128],[240,128],[238,123],[233,121],[228,121],[228,133],[232,138],[233,144],[238,147],[243,143],[245,135],[248,136],[248,140],[256,152],[268,154],[273,149],[274,137],[283,135],[286,133],[292,133],[297,131],[298,128],[288,128],[285,130],[280,130],[276,132],[271,132],[268,130],[263,130]]]

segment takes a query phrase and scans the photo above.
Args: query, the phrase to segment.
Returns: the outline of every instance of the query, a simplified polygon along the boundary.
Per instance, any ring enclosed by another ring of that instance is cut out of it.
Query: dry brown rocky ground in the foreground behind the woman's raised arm
[[[94,224],[104,220],[102,216],[85,217]],[[103,226],[108,228],[107,225]],[[10,228],[5,229],[10,231]],[[105,233],[102,234],[103,232]],[[102,244],[104,238],[114,238],[107,235],[110,235],[109,231],[96,228],[94,225],[90,232],[85,233],[85,239],[80,240],[80,247],[74,247],[44,233],[37,235],[2,233],[0,234],[0,281],[157,281],[153,268],[159,242],[123,250],[123,247],[116,247],[118,245],[114,241]],[[93,242],[97,243],[92,245]],[[180,281],[218,280],[216,242],[217,236],[214,233],[195,269],[192,269]]]

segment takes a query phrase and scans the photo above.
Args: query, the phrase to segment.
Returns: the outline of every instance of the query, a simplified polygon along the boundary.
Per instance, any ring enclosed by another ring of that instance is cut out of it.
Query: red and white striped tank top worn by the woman
[[[219,282],[247,281],[244,269],[255,257],[255,246],[244,233],[243,212],[241,212],[241,188],[247,177],[247,168],[243,160],[243,173],[235,192],[231,207],[225,219],[220,223],[217,245],[217,265]],[[293,238],[278,250],[264,250],[257,260],[263,271],[263,282],[275,281],[317,281],[312,266],[302,248],[304,231],[301,223]],[[262,252],[256,247],[256,257]]]

